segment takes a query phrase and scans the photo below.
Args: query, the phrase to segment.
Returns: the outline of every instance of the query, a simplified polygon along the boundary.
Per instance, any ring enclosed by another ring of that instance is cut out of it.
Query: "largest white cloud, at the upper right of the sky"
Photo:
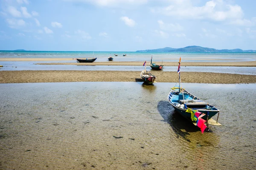
[[[152,8],[152,12],[162,13],[178,18],[227,21],[230,24],[250,25],[244,20],[244,13],[239,5],[230,4],[230,0],[209,0],[204,6],[193,6],[192,0],[169,0],[167,7]]]

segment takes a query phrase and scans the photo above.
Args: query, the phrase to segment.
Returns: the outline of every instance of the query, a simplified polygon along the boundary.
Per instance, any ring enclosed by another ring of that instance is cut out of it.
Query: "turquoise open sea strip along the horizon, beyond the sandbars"
[[[114,56],[117,54],[118,56]],[[126,56],[123,56],[126,54]],[[223,62],[228,61],[255,61],[256,52],[129,52],[129,51],[0,51],[0,58],[97,58],[96,61],[107,61],[112,56],[114,61],[142,61],[177,62]]]

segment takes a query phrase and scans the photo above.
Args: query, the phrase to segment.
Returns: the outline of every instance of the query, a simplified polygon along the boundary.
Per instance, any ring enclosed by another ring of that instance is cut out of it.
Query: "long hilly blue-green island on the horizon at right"
[[[158,49],[153,49],[153,50],[139,50],[136,52],[256,52],[256,50],[242,50],[239,48],[233,49],[233,50],[228,50],[228,49],[223,49],[223,50],[217,50],[215,48],[206,48],[206,47],[200,47],[200,46],[187,46],[184,48],[158,48]]]

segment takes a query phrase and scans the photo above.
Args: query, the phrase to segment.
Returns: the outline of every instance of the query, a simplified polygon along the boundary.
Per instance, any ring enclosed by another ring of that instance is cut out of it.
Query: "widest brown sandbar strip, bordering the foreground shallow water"
[[[141,82],[140,71],[1,71],[0,83],[33,82]],[[157,82],[177,82],[177,72],[154,71]],[[182,82],[240,84],[256,83],[256,75],[182,72]]]

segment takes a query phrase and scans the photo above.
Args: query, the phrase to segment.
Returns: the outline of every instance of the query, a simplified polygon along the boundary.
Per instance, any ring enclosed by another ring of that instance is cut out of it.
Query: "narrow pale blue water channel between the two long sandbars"
[[[49,61],[52,62],[52,61]],[[61,61],[70,62],[70,61]],[[143,66],[122,66],[122,65],[35,65],[45,62],[1,62],[0,71],[22,71],[22,70],[82,70],[82,71],[142,71]],[[151,70],[147,66],[148,71]],[[177,71],[176,66],[164,67],[162,71]],[[230,74],[251,74],[256,75],[256,67],[201,67],[181,66],[184,72],[212,72]]]

